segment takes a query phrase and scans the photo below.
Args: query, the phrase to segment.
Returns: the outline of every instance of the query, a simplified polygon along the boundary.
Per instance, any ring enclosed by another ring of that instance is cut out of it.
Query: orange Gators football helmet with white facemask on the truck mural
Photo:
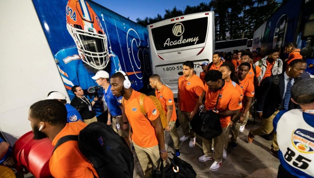
[[[109,62],[107,36],[94,10],[84,0],[69,0],[66,18],[67,29],[83,62],[104,69]]]

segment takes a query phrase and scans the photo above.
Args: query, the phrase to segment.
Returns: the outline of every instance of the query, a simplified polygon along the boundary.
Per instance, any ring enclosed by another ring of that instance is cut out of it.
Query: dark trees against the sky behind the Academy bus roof
[[[212,0],[197,6],[186,6],[184,11],[165,9],[165,15],[144,19],[137,18],[136,22],[143,26],[174,18],[181,15],[205,11],[215,12],[215,40],[252,39],[254,30],[261,26],[279,7],[274,0]]]

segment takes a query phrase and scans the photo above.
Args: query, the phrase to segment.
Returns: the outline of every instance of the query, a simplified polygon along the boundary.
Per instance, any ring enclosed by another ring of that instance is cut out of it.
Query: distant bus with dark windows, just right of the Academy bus
[[[252,39],[232,39],[227,41],[215,42],[215,50],[219,52],[232,52],[233,50],[246,50],[252,51]]]

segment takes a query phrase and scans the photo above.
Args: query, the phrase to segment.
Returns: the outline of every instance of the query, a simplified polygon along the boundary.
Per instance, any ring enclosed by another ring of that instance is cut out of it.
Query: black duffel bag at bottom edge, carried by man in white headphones
[[[158,160],[158,167],[153,168],[152,178],[196,178],[192,165],[178,158],[176,154],[171,154],[173,159],[168,158],[171,164],[166,167],[161,158]]]

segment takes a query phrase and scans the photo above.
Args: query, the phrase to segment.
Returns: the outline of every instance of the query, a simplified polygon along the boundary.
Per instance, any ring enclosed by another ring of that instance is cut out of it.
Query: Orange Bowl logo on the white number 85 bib
[[[292,143],[301,153],[314,153],[314,133],[305,129],[296,129],[292,134]]]

